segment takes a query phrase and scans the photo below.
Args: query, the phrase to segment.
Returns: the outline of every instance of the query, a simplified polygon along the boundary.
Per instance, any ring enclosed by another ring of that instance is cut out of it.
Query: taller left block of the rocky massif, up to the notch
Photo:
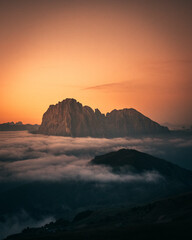
[[[104,115],[75,99],[66,99],[51,105],[43,115],[39,133],[59,136],[102,136],[100,126]]]

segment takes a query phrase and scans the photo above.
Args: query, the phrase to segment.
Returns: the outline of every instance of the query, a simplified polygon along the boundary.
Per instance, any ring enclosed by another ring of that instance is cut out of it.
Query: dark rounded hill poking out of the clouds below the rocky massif
[[[89,164],[110,167],[112,172],[116,174],[129,172],[142,174],[154,171],[172,181],[179,180],[190,183],[192,180],[192,171],[135,149],[123,148],[96,156]]]

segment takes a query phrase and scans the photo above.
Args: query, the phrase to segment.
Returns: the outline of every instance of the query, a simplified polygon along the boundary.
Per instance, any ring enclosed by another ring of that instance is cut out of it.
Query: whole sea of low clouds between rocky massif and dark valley
[[[190,151],[190,138],[70,138],[33,135],[28,132],[0,133],[0,181],[12,180],[97,180],[97,181],[156,181],[158,173],[118,176],[106,167],[90,166],[96,155],[132,148],[172,162],[183,159]],[[171,153],[174,153],[171,159]],[[179,155],[180,154],[180,155]],[[176,158],[177,156],[177,158]],[[186,158],[185,158],[186,160]],[[184,164],[183,164],[184,165]]]

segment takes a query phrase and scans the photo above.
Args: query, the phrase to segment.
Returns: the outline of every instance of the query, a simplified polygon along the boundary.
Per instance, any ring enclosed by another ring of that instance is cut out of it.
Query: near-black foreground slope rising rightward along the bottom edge
[[[192,193],[134,208],[108,208],[79,213],[41,228],[27,228],[7,240],[191,239]]]

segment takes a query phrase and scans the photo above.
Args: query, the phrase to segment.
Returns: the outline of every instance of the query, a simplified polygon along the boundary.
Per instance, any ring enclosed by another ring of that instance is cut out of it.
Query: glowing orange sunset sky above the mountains
[[[192,2],[0,1],[0,123],[75,98],[192,124]]]

